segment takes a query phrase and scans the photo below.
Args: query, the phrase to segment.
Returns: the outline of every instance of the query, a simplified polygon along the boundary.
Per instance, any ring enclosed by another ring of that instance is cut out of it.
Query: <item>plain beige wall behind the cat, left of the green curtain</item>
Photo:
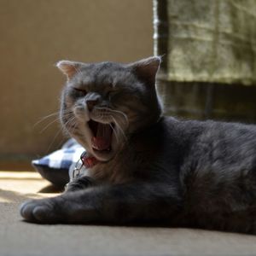
[[[58,110],[64,77],[55,61],[134,61],[153,54],[151,2],[0,0],[0,158],[60,146],[57,123],[40,133],[53,119],[33,126]]]

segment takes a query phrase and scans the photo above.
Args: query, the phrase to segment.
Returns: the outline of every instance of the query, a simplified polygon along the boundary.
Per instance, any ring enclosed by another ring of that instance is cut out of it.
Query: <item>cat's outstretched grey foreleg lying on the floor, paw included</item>
[[[170,185],[131,183],[27,201],[20,207],[20,214],[27,221],[44,224],[132,224],[170,219],[181,207],[177,189]]]

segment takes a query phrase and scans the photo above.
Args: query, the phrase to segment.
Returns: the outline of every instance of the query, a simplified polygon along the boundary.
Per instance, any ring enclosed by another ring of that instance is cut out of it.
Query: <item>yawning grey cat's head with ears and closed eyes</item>
[[[160,57],[129,64],[59,61],[67,76],[62,125],[96,159],[112,159],[131,134],[160,119],[159,66]]]

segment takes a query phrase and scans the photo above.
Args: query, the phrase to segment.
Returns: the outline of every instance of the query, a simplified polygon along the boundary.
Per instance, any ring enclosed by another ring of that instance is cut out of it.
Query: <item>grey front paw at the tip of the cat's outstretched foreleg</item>
[[[25,201],[20,206],[20,215],[29,222],[53,224],[60,221],[55,208],[55,200],[51,198]]]

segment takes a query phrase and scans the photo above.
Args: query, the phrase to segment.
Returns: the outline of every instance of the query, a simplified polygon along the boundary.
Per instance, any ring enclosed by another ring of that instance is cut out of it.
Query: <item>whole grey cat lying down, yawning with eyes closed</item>
[[[61,123],[86,148],[86,174],[23,203],[23,218],[256,232],[256,126],[162,116],[159,66],[57,64],[67,75]]]

